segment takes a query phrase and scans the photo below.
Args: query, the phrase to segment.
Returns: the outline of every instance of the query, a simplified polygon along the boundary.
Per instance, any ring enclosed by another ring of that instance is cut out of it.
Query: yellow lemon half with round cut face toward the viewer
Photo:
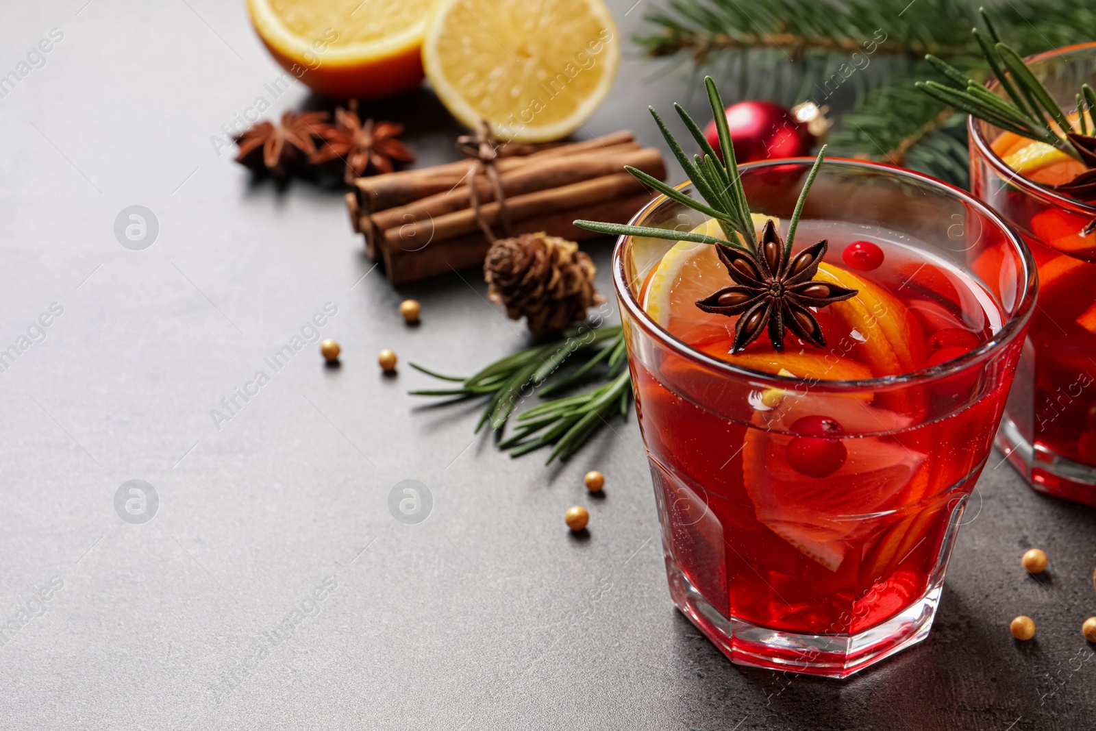
[[[445,106],[507,139],[574,132],[609,91],[623,38],[602,0],[441,0],[422,62]]]

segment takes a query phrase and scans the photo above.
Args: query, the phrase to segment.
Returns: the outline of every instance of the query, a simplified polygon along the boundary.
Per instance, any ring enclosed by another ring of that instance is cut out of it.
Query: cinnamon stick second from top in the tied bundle
[[[659,180],[666,176],[666,165],[662,160],[662,153],[653,147],[649,147],[619,156],[602,150],[574,156],[541,158],[499,175],[499,183],[502,186],[503,195],[509,199],[515,195],[618,173],[621,172],[624,165],[638,168]],[[479,190],[480,201],[492,198],[491,185],[482,175],[476,178],[475,184]],[[380,210],[372,216],[361,216],[356,230],[364,232],[367,238],[375,238],[393,226],[403,226],[424,218],[463,210],[469,205],[469,184],[458,185],[452,191],[427,196],[406,206]]]

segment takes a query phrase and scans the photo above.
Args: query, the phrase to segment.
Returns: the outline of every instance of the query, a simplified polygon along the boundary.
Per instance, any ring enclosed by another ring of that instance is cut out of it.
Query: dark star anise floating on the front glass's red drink
[[[766,324],[768,340],[777,351],[784,350],[785,328],[809,343],[824,346],[825,336],[811,308],[840,302],[857,293],[814,281],[829,245],[823,239],[792,258],[769,219],[757,254],[717,247],[719,260],[735,284],[697,300],[696,306],[705,312],[741,316],[734,325],[731,353],[757,340]]]

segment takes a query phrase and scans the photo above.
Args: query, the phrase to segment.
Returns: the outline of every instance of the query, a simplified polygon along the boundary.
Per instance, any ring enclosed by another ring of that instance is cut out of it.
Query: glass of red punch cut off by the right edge
[[[1069,110],[1083,82],[1096,83],[1096,44],[1027,65]],[[1077,126],[1075,107],[1069,119]],[[1096,505],[1096,204],[1048,187],[1085,165],[974,118],[970,139],[971,191],[1019,230],[1039,269],[1039,307],[998,444],[1035,489]]]

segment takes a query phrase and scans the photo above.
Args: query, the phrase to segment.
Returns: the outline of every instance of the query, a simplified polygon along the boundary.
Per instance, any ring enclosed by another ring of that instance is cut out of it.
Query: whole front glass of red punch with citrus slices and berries
[[[809,167],[741,168],[781,233]],[[716,230],[666,198],[632,222]],[[821,347],[732,353],[711,244],[623,237],[614,277],[674,603],[737,663],[844,677],[928,633],[1035,276],[992,210],[886,165],[822,163],[790,255],[823,239],[814,282],[856,295],[812,310]]]

